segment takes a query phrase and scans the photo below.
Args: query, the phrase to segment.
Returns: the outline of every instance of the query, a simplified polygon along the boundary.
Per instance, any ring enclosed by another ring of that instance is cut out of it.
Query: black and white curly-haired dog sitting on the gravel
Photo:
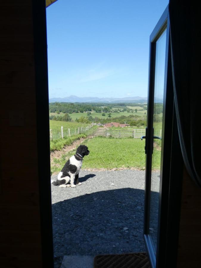
[[[59,185],[59,187],[76,187],[76,184],[81,185],[82,183],[79,182],[79,172],[82,167],[83,157],[88,154],[88,147],[80,145],[77,148],[76,154],[71,156],[66,162],[63,169],[59,172],[57,180],[52,184]]]

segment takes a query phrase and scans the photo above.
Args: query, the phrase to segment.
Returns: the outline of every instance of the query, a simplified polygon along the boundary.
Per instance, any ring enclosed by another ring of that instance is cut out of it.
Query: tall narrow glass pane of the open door
[[[153,154],[152,154],[150,216],[149,216],[149,235],[152,241],[152,246],[155,255],[157,249],[157,233],[158,233],[165,53],[166,53],[166,29],[164,30],[160,38],[156,41],[156,60],[155,60],[154,114],[153,114],[154,142],[153,142]]]

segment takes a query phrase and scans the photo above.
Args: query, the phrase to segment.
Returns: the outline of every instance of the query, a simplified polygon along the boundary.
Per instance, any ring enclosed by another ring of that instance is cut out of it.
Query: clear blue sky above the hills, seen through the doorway
[[[167,4],[58,0],[49,6],[49,97],[146,97],[149,36]]]

